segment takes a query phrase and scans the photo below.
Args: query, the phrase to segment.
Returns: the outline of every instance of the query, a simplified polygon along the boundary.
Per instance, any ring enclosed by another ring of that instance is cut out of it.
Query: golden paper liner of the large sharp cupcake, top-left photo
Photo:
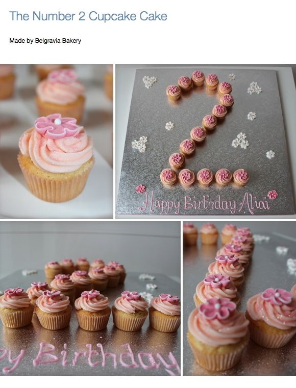
[[[93,166],[91,160],[88,166],[81,172],[75,172],[65,179],[48,179],[46,173],[43,176],[32,173],[22,162],[21,156],[18,155],[18,162],[26,180],[27,186],[32,194],[46,202],[66,202],[76,198],[84,189],[88,175]]]

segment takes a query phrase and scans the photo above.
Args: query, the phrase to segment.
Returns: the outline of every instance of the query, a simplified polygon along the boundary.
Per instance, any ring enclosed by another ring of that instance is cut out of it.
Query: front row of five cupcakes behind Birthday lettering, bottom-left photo
[[[136,291],[122,292],[110,308],[108,297],[92,289],[81,293],[73,309],[79,326],[89,331],[105,329],[111,311],[115,327],[124,331],[140,330],[148,314],[150,325],[158,331],[173,332],[180,326],[181,304],[176,295],[160,294],[147,308],[147,301]],[[33,301],[22,288],[10,288],[0,297],[0,318],[10,328],[30,324],[36,313],[42,327],[59,330],[69,325],[71,312],[69,297],[61,291],[45,290]]]

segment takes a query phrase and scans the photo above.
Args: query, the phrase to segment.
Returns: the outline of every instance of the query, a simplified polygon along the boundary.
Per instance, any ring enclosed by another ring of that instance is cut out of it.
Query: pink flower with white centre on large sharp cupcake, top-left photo
[[[68,136],[74,136],[80,126],[76,124],[77,120],[71,117],[64,117],[59,113],[42,116],[35,120],[35,129],[41,135],[50,139],[59,139]]]

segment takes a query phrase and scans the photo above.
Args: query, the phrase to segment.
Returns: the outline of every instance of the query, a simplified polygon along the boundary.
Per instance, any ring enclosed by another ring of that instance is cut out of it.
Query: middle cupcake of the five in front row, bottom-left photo
[[[111,314],[109,299],[100,291],[84,291],[75,300],[75,313],[79,326],[84,330],[98,331],[107,327]]]

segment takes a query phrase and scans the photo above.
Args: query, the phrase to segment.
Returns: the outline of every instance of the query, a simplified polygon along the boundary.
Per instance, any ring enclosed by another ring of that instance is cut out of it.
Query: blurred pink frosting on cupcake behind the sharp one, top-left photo
[[[73,70],[55,70],[41,81],[36,88],[37,96],[41,101],[58,105],[74,102],[84,95],[83,85],[77,81]]]

